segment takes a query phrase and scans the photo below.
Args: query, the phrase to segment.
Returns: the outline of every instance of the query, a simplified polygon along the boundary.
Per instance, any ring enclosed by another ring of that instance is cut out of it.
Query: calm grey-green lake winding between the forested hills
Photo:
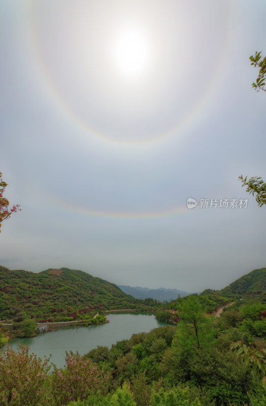
[[[155,319],[154,315],[143,313],[112,313],[107,315],[109,323],[98,326],[64,327],[58,330],[41,333],[37,337],[18,338],[11,340],[13,349],[18,344],[26,344],[29,353],[34,353],[44,359],[52,354],[51,361],[57,367],[65,364],[65,351],[78,351],[84,355],[97,346],[111,347],[117,341],[129,339],[132,334],[141,331],[148,332],[155,327],[165,326]],[[6,346],[0,351],[6,350]]]

